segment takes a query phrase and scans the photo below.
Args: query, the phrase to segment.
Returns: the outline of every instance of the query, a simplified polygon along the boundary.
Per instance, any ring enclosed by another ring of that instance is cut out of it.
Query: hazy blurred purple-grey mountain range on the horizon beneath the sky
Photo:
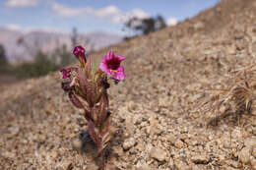
[[[32,60],[38,50],[52,53],[56,48],[66,45],[72,49],[71,33],[57,33],[43,30],[24,32],[0,28],[0,44],[3,44],[6,55],[11,62]],[[78,44],[87,46],[87,51],[94,51],[110,44],[120,42],[121,36],[102,31],[78,35]]]

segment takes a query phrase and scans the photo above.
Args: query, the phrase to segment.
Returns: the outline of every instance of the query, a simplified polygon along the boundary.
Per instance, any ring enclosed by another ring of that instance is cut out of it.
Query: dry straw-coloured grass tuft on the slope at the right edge
[[[228,116],[239,118],[250,114],[253,109],[256,90],[256,64],[232,71],[224,79],[218,89],[210,89],[210,97],[197,108],[197,112],[207,119],[208,125],[218,125],[218,122]],[[209,121],[210,120],[210,121]]]

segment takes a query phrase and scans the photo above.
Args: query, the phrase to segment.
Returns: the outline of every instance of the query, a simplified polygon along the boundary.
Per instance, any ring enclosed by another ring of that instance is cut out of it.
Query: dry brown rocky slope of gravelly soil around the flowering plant
[[[93,54],[96,61],[109,49],[127,57],[129,78],[110,89],[119,130],[108,169],[256,169],[256,110],[218,126],[193,112],[205,89],[256,59],[255,18],[255,0],[224,0],[175,27]],[[96,169],[94,145],[79,141],[87,122],[60,82],[53,73],[1,87],[0,169]]]

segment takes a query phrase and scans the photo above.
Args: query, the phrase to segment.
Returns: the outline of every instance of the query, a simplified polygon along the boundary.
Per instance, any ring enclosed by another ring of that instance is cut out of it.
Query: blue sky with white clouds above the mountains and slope
[[[0,27],[31,31],[106,31],[127,34],[131,17],[161,15],[168,26],[197,15],[220,0],[0,0]]]

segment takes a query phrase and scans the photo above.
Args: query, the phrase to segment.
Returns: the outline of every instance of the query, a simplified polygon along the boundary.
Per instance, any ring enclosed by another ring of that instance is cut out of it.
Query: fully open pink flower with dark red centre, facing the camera
[[[125,60],[124,56],[115,56],[114,53],[110,51],[103,57],[99,69],[108,75],[112,75],[115,80],[122,81],[127,78],[124,73],[124,67],[120,66],[123,60]]]

